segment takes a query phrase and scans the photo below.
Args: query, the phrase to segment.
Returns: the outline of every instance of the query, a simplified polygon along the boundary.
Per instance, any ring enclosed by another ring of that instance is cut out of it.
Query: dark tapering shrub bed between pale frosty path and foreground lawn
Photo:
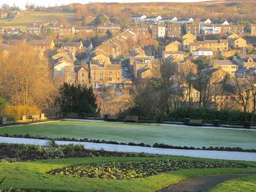
[[[56,145],[49,142],[47,146],[0,144],[0,162],[27,161],[49,158],[82,158],[82,157],[153,157],[147,153],[121,153],[105,150],[89,150],[83,145]]]

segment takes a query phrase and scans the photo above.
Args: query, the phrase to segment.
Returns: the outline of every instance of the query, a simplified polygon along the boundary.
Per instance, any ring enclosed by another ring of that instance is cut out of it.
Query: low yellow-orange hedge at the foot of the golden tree
[[[31,115],[37,115],[40,113],[41,113],[41,110],[37,106],[7,105],[4,107],[4,115],[6,115],[9,118],[15,118],[21,115],[31,116]]]

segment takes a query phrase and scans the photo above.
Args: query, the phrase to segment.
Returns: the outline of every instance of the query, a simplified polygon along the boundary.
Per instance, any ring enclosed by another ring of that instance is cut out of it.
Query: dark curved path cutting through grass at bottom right
[[[214,188],[215,185],[223,183],[227,180],[233,180],[237,177],[244,177],[256,174],[220,174],[210,175],[205,177],[197,177],[194,179],[185,180],[181,183],[170,185],[167,188],[162,188],[158,192],[205,192]]]

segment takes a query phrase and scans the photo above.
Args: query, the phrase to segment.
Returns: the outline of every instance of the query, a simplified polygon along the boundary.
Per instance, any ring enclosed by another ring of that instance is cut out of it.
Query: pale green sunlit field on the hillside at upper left
[[[71,12],[20,12],[15,19],[0,20],[0,26],[26,26],[28,23],[47,23],[49,21],[72,22]]]

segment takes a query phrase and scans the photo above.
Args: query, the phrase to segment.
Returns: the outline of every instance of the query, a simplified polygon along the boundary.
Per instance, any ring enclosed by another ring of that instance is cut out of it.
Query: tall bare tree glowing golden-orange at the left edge
[[[0,69],[0,95],[9,104],[47,107],[53,101],[50,65],[33,47],[18,45],[0,56]]]

